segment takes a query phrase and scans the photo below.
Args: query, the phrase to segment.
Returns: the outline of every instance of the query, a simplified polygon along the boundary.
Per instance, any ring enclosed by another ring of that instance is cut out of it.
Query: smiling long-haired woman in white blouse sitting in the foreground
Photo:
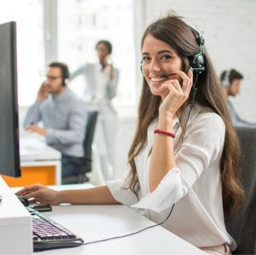
[[[49,204],[144,208],[149,219],[209,254],[231,254],[236,242],[224,215],[243,200],[241,151],[203,36],[176,15],[152,23],[142,37],[142,73],[126,179],[83,191],[36,185],[18,194]]]

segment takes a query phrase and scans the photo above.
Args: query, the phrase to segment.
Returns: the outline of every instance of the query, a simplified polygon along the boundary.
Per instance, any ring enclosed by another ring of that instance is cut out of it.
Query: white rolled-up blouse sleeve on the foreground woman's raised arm
[[[225,126],[215,113],[205,113],[189,128],[173,167],[156,189],[133,207],[161,212],[187,194],[210,163],[222,153]]]

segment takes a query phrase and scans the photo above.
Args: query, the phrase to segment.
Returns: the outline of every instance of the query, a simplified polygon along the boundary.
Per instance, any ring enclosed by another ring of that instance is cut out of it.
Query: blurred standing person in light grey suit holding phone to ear
[[[114,149],[116,144],[117,116],[112,104],[116,96],[119,70],[113,67],[110,55],[112,44],[106,40],[96,43],[98,62],[86,63],[79,67],[70,77],[84,76],[86,87],[83,99],[90,109],[99,111],[95,130],[95,144],[100,156],[100,165],[105,179],[114,177]]]

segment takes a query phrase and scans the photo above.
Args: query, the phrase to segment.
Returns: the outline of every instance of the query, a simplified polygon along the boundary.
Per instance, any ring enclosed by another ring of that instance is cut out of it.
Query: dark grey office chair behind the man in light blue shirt
[[[86,137],[83,140],[84,156],[79,159],[79,162],[83,165],[81,172],[63,178],[62,184],[83,184],[83,182],[89,181],[88,177],[86,177],[86,173],[91,172],[92,170],[92,144],[97,123],[97,115],[98,111],[88,111],[87,114]]]

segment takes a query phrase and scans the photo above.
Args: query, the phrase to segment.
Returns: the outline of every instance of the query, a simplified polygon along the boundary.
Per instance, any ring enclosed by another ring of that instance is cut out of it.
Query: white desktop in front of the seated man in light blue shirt
[[[20,160],[38,161],[38,160],[60,160],[60,151],[48,146],[43,139],[39,137],[20,137]]]

